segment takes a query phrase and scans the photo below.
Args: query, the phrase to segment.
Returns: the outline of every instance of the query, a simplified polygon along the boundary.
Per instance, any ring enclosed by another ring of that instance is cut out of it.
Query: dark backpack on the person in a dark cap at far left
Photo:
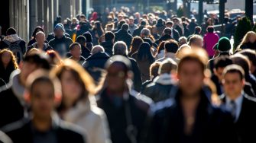
[[[21,40],[15,41],[14,43],[9,42],[8,40],[4,40],[4,42],[8,45],[8,49],[13,52],[19,63],[23,57],[23,52],[21,46],[19,45],[21,43]]]

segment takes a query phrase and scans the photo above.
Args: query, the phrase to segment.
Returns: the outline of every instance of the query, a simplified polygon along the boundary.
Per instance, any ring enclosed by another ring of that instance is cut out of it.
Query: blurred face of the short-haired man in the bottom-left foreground
[[[31,108],[34,116],[48,118],[54,109],[54,90],[48,82],[39,81],[31,91]]]

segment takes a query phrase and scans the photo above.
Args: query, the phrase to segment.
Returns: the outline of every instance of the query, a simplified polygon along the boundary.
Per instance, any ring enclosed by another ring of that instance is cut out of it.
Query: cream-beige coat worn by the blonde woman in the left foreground
[[[90,100],[79,101],[64,114],[63,119],[86,129],[86,140],[89,143],[111,143],[107,118],[94,100],[90,97]]]

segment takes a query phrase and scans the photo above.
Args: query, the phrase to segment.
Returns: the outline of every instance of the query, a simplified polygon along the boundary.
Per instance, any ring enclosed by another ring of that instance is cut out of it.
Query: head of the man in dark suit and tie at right
[[[235,100],[245,86],[245,71],[239,65],[228,65],[223,71],[222,84],[225,95]]]

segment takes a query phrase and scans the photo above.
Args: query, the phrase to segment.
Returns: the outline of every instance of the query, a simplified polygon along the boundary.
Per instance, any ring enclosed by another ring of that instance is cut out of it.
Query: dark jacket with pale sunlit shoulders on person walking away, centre
[[[173,80],[169,74],[159,75],[154,78],[151,84],[148,84],[141,94],[150,97],[154,102],[167,100],[170,98],[170,90],[173,87]]]

